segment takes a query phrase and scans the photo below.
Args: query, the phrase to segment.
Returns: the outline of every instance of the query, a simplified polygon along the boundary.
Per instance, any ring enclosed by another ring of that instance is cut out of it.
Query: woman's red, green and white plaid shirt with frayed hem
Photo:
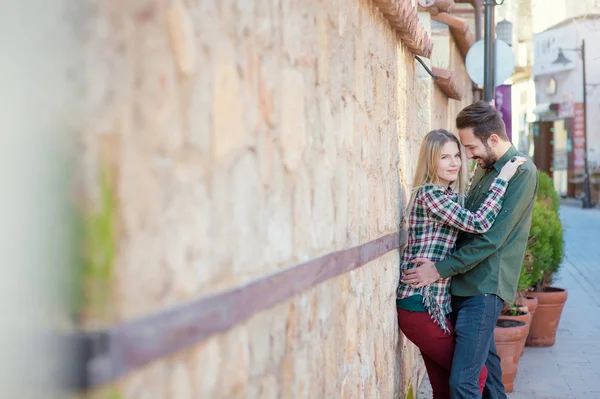
[[[409,217],[408,243],[402,253],[400,275],[417,266],[411,263],[415,258],[427,258],[434,263],[444,259],[454,249],[460,230],[479,234],[488,231],[500,212],[507,185],[506,181],[496,178],[477,212],[459,205],[458,196],[449,188],[421,187]],[[423,304],[434,321],[448,331],[446,314],[451,311],[450,279],[441,278],[418,289],[400,281],[396,294],[399,299],[423,295]]]

